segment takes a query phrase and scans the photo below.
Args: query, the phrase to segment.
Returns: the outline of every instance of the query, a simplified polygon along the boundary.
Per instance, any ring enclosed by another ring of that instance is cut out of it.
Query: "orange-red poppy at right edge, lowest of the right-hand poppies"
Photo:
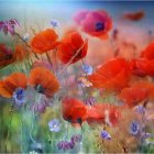
[[[154,85],[148,81],[139,81],[121,90],[119,98],[129,107],[134,107],[148,100],[153,95]]]

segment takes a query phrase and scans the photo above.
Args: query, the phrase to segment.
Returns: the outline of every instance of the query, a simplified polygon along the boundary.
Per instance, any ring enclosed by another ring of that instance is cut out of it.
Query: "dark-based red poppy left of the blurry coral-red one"
[[[64,98],[62,101],[63,118],[72,123],[81,124],[86,120],[87,108],[78,99]]]

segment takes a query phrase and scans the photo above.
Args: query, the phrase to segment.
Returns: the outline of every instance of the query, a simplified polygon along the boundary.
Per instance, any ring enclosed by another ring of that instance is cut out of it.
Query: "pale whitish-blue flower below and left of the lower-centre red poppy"
[[[48,128],[51,132],[59,132],[61,131],[61,123],[57,119],[51,120],[48,122]]]

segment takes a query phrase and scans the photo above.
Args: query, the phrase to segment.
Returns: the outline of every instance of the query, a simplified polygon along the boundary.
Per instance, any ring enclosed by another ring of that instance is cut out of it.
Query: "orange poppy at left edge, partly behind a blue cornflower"
[[[16,88],[26,88],[26,76],[22,73],[13,73],[4,80],[0,80],[0,96],[11,98]]]

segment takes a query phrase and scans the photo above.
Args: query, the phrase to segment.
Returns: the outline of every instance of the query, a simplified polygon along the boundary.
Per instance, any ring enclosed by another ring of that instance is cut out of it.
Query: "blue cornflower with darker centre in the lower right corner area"
[[[132,135],[136,135],[139,133],[139,131],[140,131],[139,122],[138,121],[131,122],[131,124],[130,124],[130,133]]]

